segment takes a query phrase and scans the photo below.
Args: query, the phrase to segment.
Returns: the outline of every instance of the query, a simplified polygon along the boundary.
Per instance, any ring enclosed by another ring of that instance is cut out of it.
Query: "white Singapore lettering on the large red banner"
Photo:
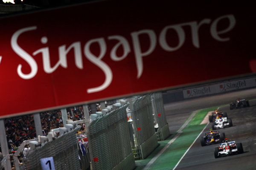
[[[223,20],[227,23],[227,27],[222,29],[222,30],[217,30],[218,23]],[[121,61],[125,59],[125,57],[128,56],[129,53],[134,53],[135,56],[135,61],[136,61],[136,67],[137,67],[137,79],[141,77],[143,74],[143,57],[146,57],[150,55],[152,52],[154,52],[157,43],[159,43],[159,46],[161,49],[164,51],[176,51],[179,48],[182,47],[186,40],[186,34],[183,29],[184,26],[189,26],[191,30],[191,36],[192,36],[192,45],[195,48],[200,48],[200,41],[199,41],[199,28],[204,25],[208,24],[209,25],[209,33],[211,34],[212,38],[220,41],[220,42],[225,42],[229,41],[229,37],[221,37],[221,34],[227,33],[231,31],[234,26],[236,25],[236,19],[233,16],[233,14],[228,14],[228,15],[223,15],[221,17],[216,18],[215,20],[211,20],[209,18],[201,20],[199,23],[197,21],[192,21],[192,22],[187,22],[187,23],[180,23],[180,24],[175,24],[175,25],[169,25],[165,26],[161,31],[160,34],[157,35],[156,32],[152,29],[143,29],[139,31],[134,31],[130,33],[131,36],[131,42],[128,42],[128,39],[126,37],[123,37],[122,35],[111,35],[108,36],[107,38],[104,37],[99,37],[95,39],[91,39],[87,41],[85,44],[81,44],[80,41],[77,42],[72,42],[71,45],[67,46],[66,44],[60,44],[58,46],[58,62],[52,67],[50,63],[50,56],[51,54],[49,53],[49,47],[47,46],[42,46],[42,48],[35,49],[35,51],[32,54],[29,54],[26,52],[26,49],[21,48],[18,45],[18,39],[21,34],[29,34],[30,31],[36,31],[37,26],[30,26],[26,28],[22,28],[17,30],[13,35],[11,39],[11,46],[12,50],[15,51],[15,53],[24,59],[26,63],[29,65],[31,68],[30,73],[25,74],[22,71],[22,64],[19,64],[17,66],[17,74],[22,78],[22,79],[32,79],[33,77],[36,76],[38,72],[38,65],[33,56],[36,55],[41,55],[43,58],[43,69],[45,73],[52,73],[54,72],[59,66],[63,68],[68,68],[67,65],[67,54],[70,52],[71,49],[74,51],[74,60],[76,67],[79,69],[83,69],[83,57],[86,57],[90,62],[92,62],[94,65],[99,67],[105,74],[105,81],[102,85],[99,85],[98,87],[95,88],[89,88],[87,89],[87,93],[94,93],[98,91],[102,91],[105,88],[107,88],[113,79],[113,73],[111,68],[107,63],[102,61],[102,58],[105,57],[106,55],[110,56],[113,61]],[[167,37],[167,32],[169,30],[174,30],[177,34],[178,37],[178,43],[176,46],[170,46],[167,43],[167,40],[171,39],[172,37]],[[141,50],[141,43],[143,41],[140,40],[141,35],[146,35],[148,37],[149,41],[149,47],[146,51]],[[116,45],[113,46],[113,48],[110,50],[110,54],[107,53],[107,48],[108,48],[108,41],[110,40],[117,40],[118,42]],[[36,40],[33,40],[36,41]],[[47,44],[48,42],[48,37],[41,37],[41,43],[42,45]],[[93,54],[92,51],[90,51],[90,46],[93,43],[97,43],[99,45],[99,55]],[[116,51],[118,48],[123,49],[123,54],[122,56],[118,56],[116,54]]]

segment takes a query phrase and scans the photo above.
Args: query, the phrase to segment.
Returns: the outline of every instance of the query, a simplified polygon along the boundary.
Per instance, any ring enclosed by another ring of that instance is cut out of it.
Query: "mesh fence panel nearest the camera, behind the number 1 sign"
[[[71,132],[59,136],[42,146],[23,159],[27,170],[42,170],[41,158],[53,157],[55,170],[80,170],[76,133],[81,126]]]

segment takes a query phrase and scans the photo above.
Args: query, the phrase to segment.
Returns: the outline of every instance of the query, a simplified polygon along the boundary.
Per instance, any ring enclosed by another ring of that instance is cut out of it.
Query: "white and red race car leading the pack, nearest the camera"
[[[236,141],[229,142],[228,138],[225,139],[224,143],[220,143],[220,147],[214,148],[214,157],[219,158],[221,156],[229,156],[237,153],[244,153],[243,145]]]

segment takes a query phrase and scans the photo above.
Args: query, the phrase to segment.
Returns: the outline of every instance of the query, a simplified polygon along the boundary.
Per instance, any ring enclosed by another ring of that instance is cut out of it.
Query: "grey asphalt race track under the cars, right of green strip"
[[[211,123],[192,145],[175,170],[255,170],[256,169],[256,100],[250,100],[250,107],[230,110],[229,103],[240,99],[256,99],[256,89],[239,91],[184,102],[166,105],[167,121],[171,133],[177,130],[188,118],[192,111],[221,106],[219,110],[227,112],[228,119],[232,119],[233,127],[219,129],[226,137],[236,143],[241,142],[244,153],[233,156],[214,158],[213,149],[219,144],[201,147],[200,137],[209,132]],[[183,107],[181,107],[183,106]],[[171,111],[172,110],[172,111]]]

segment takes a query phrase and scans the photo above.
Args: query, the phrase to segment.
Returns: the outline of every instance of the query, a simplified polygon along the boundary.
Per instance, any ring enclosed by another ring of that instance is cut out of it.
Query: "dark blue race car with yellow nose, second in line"
[[[219,131],[210,129],[209,133],[205,133],[205,136],[201,137],[201,146],[216,144],[222,142],[225,138],[225,133],[219,133]]]

